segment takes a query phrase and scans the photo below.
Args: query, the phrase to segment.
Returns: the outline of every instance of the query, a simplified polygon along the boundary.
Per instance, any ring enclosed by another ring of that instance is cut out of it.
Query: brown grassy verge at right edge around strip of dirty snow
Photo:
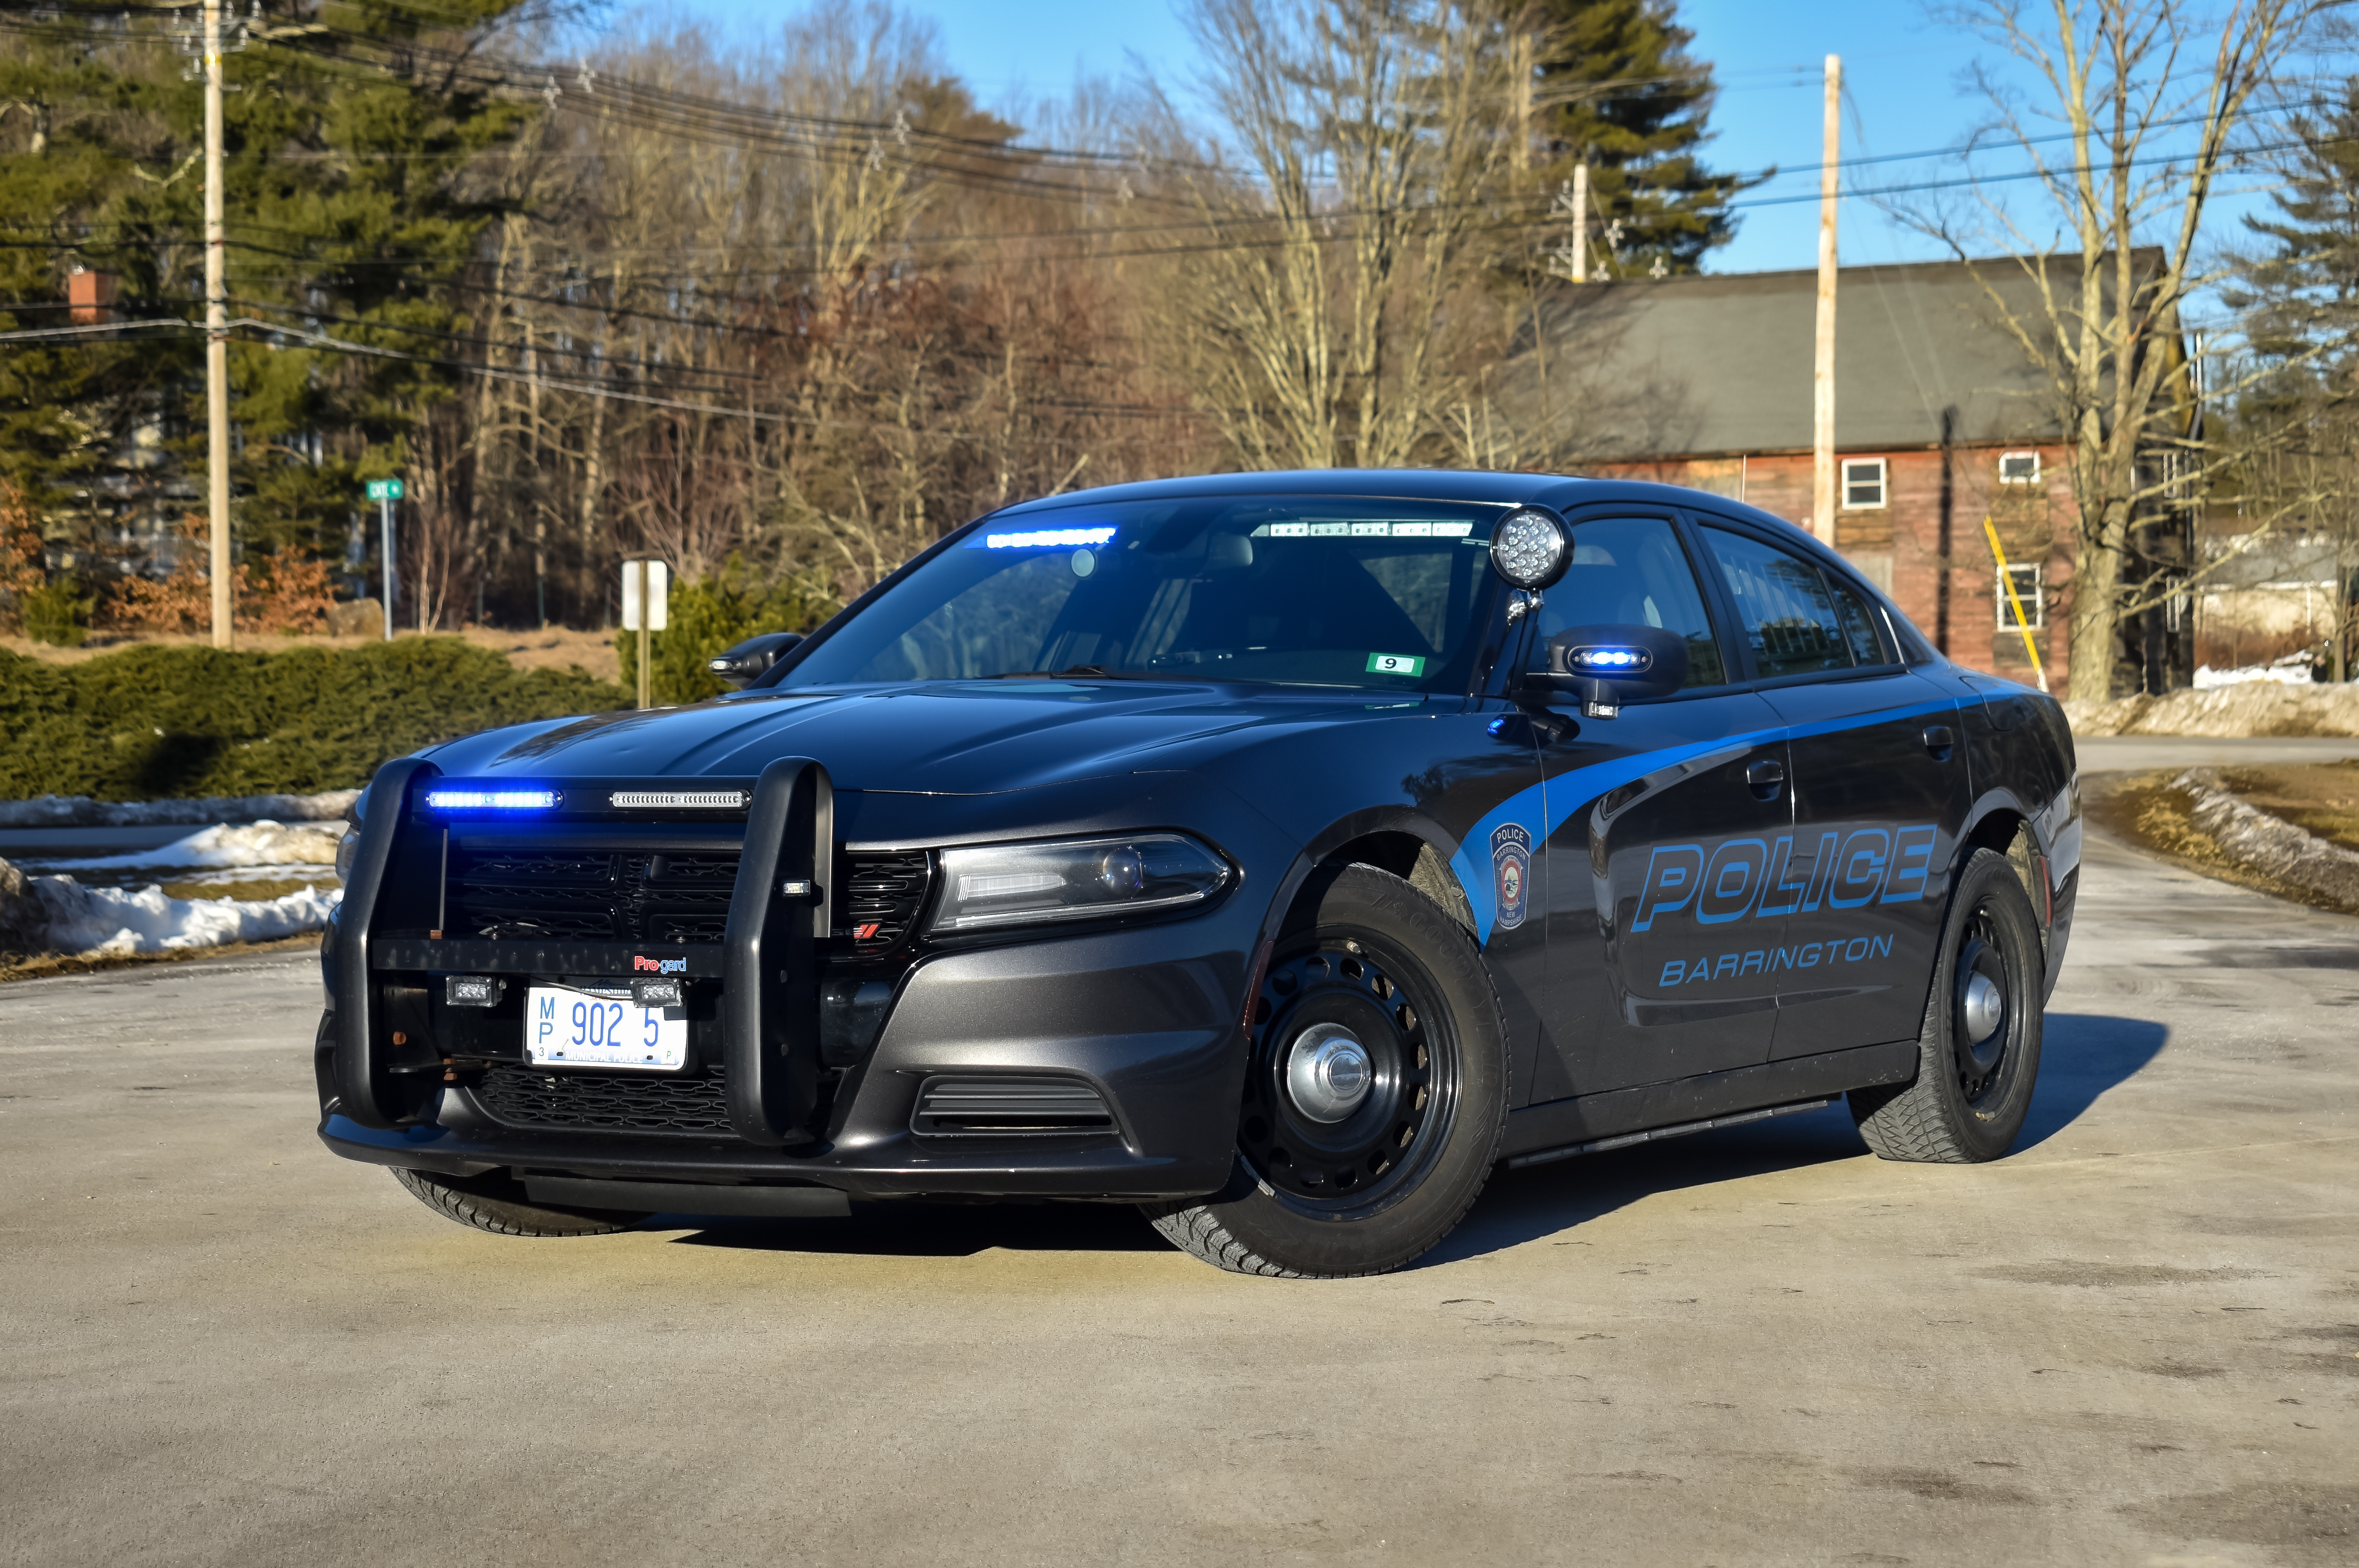
[[[2359,915],[2359,903],[2286,882],[2248,865],[2196,821],[2194,795],[2175,780],[2184,769],[2088,773],[2083,804],[2095,828],[2187,870],[2250,887],[2317,910]],[[2333,844],[2359,851],[2359,762],[2220,769],[2250,806]]]

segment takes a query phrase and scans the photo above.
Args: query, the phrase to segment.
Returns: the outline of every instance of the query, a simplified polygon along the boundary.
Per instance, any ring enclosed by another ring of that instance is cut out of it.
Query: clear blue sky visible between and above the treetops
[[[724,31],[767,31],[790,7],[781,0],[677,0],[675,9]],[[1076,73],[1123,75],[1139,61],[1168,83],[1184,83],[1194,47],[1163,0],[911,0],[932,17],[951,68],[998,104],[1054,97]],[[1911,0],[1682,0],[1694,52],[1713,61],[1720,104],[1713,111],[1710,163],[1724,170],[1798,170],[1753,191],[1736,241],[1715,252],[1713,271],[1769,271],[1816,264],[1819,61],[1840,52],[1847,111],[1842,156],[1892,158],[1946,149],[1965,139],[1984,106],[1960,92],[1958,75],[1979,45],[1925,21]],[[1986,170],[2017,167],[2022,153],[1991,153]],[[1951,160],[1880,163],[1857,172],[1868,184],[1956,174]],[[1918,262],[1946,255],[1866,200],[1847,200],[1840,248],[1845,264]]]

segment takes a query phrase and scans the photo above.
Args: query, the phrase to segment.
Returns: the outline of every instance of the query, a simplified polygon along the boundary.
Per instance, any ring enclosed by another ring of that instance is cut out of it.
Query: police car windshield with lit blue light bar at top
[[[1463,693],[1505,512],[1222,495],[993,519],[778,684],[1071,674]]]

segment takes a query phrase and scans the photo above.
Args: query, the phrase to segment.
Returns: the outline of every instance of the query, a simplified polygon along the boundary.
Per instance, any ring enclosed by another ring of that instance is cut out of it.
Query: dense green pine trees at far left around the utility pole
[[[241,547],[340,542],[361,476],[403,467],[418,422],[451,396],[474,318],[453,285],[500,215],[465,170],[535,108],[451,61],[528,2],[234,9],[229,314],[281,328],[241,328],[229,351]],[[189,17],[64,5],[5,28],[0,325],[66,325],[78,266],[118,278],[118,318],[203,321]],[[203,396],[196,332],[0,344],[0,476],[52,533],[101,535],[139,507],[170,523],[201,493]]]

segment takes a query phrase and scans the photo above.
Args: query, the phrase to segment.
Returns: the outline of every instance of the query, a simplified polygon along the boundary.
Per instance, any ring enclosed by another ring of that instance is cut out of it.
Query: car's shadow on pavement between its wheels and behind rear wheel
[[[2041,1030],[2041,1082],[2015,1153],[2036,1148],[2081,1120],[2100,1094],[2137,1075],[2168,1040],[2170,1028],[2149,1019],[2048,1014]],[[1562,1238],[1590,1219],[1661,1193],[1866,1155],[1868,1146],[1859,1139],[1849,1108],[1835,1101],[1824,1111],[1503,1170],[1465,1221],[1415,1266]]]

